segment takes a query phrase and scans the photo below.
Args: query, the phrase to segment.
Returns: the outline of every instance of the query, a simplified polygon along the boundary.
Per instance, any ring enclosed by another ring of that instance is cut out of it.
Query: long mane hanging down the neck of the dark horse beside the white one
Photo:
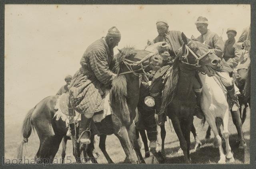
[[[178,86],[178,79],[180,73],[180,66],[179,62],[182,56],[185,54],[185,44],[182,45],[182,50],[178,53],[177,57],[174,59],[173,65],[168,72],[167,81],[164,85],[164,90],[162,94],[162,105],[161,105],[161,112],[165,112],[166,106],[172,102],[174,96],[176,95],[177,86]]]

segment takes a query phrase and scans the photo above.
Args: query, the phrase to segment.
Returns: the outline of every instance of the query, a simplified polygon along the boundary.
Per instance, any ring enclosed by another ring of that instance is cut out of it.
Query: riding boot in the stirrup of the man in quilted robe
[[[92,118],[86,118],[84,116],[84,114],[81,114],[81,121],[79,124],[79,138],[77,140],[77,142],[79,143],[79,141],[83,144],[90,144],[91,140],[90,140],[90,126],[91,126],[91,122],[92,122]]]

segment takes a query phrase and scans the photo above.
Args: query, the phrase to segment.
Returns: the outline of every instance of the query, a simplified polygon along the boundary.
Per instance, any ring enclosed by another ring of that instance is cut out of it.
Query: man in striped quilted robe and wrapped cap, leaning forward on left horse
[[[102,37],[89,45],[80,60],[80,69],[70,84],[70,114],[74,108],[81,114],[78,142],[90,143],[90,125],[94,113],[102,112],[104,91],[110,88],[116,77],[111,71],[114,65],[114,47],[121,40],[120,31],[114,26]]]

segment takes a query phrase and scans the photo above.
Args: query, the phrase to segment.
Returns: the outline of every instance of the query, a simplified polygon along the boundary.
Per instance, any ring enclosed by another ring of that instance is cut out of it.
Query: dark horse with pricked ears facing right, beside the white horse
[[[196,104],[192,79],[195,77],[197,67],[219,67],[220,58],[193,37],[188,41],[182,33],[182,39],[184,41],[182,51],[176,57],[164,86],[161,112],[166,112],[167,108],[166,115],[172,120],[185,163],[191,163],[190,132]]]

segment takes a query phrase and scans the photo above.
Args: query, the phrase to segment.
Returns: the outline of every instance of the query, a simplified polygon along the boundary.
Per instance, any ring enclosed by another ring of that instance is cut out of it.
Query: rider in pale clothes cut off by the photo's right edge
[[[250,66],[250,46],[251,46],[251,29],[250,26],[243,29],[241,36],[237,41],[237,48],[240,49],[240,59],[238,61],[237,82],[245,81],[248,67]]]

